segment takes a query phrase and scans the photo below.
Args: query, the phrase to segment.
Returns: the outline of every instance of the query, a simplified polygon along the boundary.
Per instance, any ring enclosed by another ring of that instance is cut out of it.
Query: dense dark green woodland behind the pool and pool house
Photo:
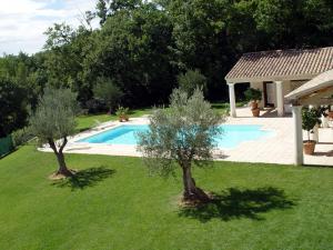
[[[225,100],[223,78],[242,53],[333,44],[327,0],[98,0],[83,23],[50,27],[39,53],[3,56],[0,78],[23,87],[32,108],[53,86],[71,88],[83,108],[98,111],[91,106],[100,78],[117,83],[123,106],[148,107],[168,102],[176,76],[198,69],[208,99]]]

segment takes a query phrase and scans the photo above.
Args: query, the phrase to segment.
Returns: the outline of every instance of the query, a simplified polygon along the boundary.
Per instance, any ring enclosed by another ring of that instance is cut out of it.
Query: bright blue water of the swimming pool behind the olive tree
[[[261,130],[261,126],[222,124],[221,127],[223,134],[215,140],[218,147],[224,149],[232,149],[243,141],[259,140],[273,134],[272,131]],[[78,142],[135,146],[137,132],[148,129],[148,126],[120,126]]]

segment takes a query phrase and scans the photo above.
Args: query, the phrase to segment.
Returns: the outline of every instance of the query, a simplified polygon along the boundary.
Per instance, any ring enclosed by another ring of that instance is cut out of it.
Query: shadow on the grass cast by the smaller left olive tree
[[[52,184],[59,188],[71,188],[72,190],[93,187],[98,182],[113,176],[115,170],[105,167],[90,168],[78,171],[73,177],[57,180]]]

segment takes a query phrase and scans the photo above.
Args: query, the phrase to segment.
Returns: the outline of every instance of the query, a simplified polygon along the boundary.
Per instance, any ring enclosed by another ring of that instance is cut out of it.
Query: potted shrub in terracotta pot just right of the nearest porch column
[[[313,128],[320,123],[319,111],[316,109],[304,108],[302,110],[302,128],[307,131],[307,140],[303,141],[305,154],[313,154],[316,141],[310,139]]]

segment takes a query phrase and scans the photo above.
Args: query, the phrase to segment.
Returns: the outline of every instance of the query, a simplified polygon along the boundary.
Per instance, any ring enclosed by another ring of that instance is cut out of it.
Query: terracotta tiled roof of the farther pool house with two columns
[[[333,69],[333,47],[244,53],[226,74],[229,82],[311,79]]]

